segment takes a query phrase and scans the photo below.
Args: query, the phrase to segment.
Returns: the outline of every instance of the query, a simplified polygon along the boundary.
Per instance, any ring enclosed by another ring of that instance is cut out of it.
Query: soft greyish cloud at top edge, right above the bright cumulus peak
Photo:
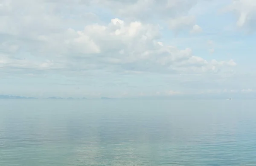
[[[200,26],[195,24],[195,16],[189,14],[199,1],[206,0],[98,0],[92,1],[92,4],[97,2],[101,6],[108,6],[118,16],[132,21],[163,20],[178,33],[183,29],[201,31]]]

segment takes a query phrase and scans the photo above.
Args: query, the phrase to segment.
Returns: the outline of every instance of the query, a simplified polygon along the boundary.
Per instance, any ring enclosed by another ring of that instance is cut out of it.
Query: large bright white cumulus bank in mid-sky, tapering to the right
[[[159,26],[138,21],[125,22],[117,18],[106,25],[91,24],[83,30],[69,28],[60,32],[34,35],[32,39],[37,43],[36,46],[27,46],[32,55],[48,54],[55,60],[38,63],[3,57],[2,61],[5,63],[2,66],[61,69],[65,66],[72,67],[76,63],[75,66],[79,69],[87,69],[93,64],[96,67],[115,66],[116,69],[125,71],[196,73],[218,72],[222,67],[235,66],[235,63],[229,65],[229,62],[216,60],[208,62],[194,56],[189,48],[180,50],[175,46],[165,45],[159,41]],[[77,58],[79,62],[76,61]]]

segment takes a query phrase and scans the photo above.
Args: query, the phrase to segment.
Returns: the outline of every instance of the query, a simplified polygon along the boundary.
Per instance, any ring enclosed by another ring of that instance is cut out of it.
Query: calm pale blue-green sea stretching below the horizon
[[[0,100],[0,166],[256,166],[255,100]]]

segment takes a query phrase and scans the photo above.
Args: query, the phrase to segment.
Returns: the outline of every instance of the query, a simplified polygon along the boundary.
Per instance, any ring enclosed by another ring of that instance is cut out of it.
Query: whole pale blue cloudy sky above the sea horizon
[[[0,94],[256,93],[256,0],[0,0]]]

